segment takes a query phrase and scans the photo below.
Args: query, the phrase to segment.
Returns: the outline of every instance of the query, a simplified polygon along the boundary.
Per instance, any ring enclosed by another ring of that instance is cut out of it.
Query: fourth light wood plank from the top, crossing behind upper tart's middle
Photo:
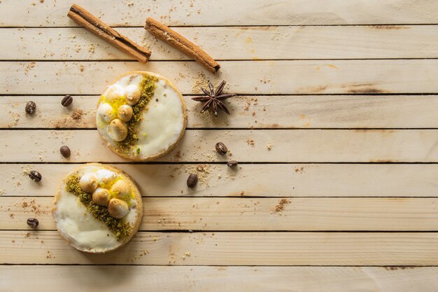
[[[73,97],[69,108],[64,96],[6,96],[0,106],[1,128],[95,128],[97,96]],[[29,116],[24,106],[36,103]],[[242,96],[227,103],[232,117],[214,118],[199,113],[199,102],[185,97],[189,128],[437,128],[438,95],[350,96]],[[82,111],[80,120],[71,113]]]

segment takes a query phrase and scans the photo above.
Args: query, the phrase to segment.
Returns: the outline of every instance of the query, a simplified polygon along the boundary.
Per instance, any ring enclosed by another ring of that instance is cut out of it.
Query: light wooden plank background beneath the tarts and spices
[[[437,1],[76,3],[153,55],[139,64],[78,27],[70,1],[0,1],[0,291],[438,291]],[[148,16],[219,74],[150,36]],[[139,69],[174,81],[189,116],[148,163],[111,153],[94,125],[108,82]],[[223,79],[232,116],[199,114],[190,97]],[[108,255],[72,249],[50,216],[82,162],[120,167],[143,195],[138,235]]]

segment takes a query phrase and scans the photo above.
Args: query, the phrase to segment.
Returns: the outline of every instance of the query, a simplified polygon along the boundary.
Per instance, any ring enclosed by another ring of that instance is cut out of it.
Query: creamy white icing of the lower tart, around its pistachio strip
[[[120,220],[124,223],[129,223],[132,229],[129,236],[118,240],[113,231],[101,220],[95,218],[90,210],[85,207],[85,204],[80,202],[77,195],[66,189],[67,179],[71,176],[69,174],[59,186],[52,209],[52,216],[55,219],[57,230],[62,237],[76,249],[91,253],[111,251],[128,242],[138,229],[141,216],[143,215],[141,196],[134,183],[118,169],[97,163],[84,165],[73,173],[78,178],[97,178],[99,182],[97,186],[98,192],[102,189],[111,188],[115,182],[125,181],[132,190],[132,195],[124,197],[125,204],[128,205],[128,211]],[[90,183],[92,182],[91,179]],[[117,195],[117,193],[110,192],[110,197],[116,197]]]

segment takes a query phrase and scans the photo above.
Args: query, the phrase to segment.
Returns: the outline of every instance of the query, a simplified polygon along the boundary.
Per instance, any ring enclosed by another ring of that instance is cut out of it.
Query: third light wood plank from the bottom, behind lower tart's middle
[[[139,230],[438,230],[438,198],[143,198]],[[0,197],[0,229],[56,230],[52,197]]]

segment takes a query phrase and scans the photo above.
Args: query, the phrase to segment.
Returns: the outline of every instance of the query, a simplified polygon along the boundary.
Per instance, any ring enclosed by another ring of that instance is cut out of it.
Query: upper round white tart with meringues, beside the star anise
[[[96,123],[112,151],[146,161],[176,146],[187,115],[181,92],[167,78],[134,71],[117,78],[101,95]]]

